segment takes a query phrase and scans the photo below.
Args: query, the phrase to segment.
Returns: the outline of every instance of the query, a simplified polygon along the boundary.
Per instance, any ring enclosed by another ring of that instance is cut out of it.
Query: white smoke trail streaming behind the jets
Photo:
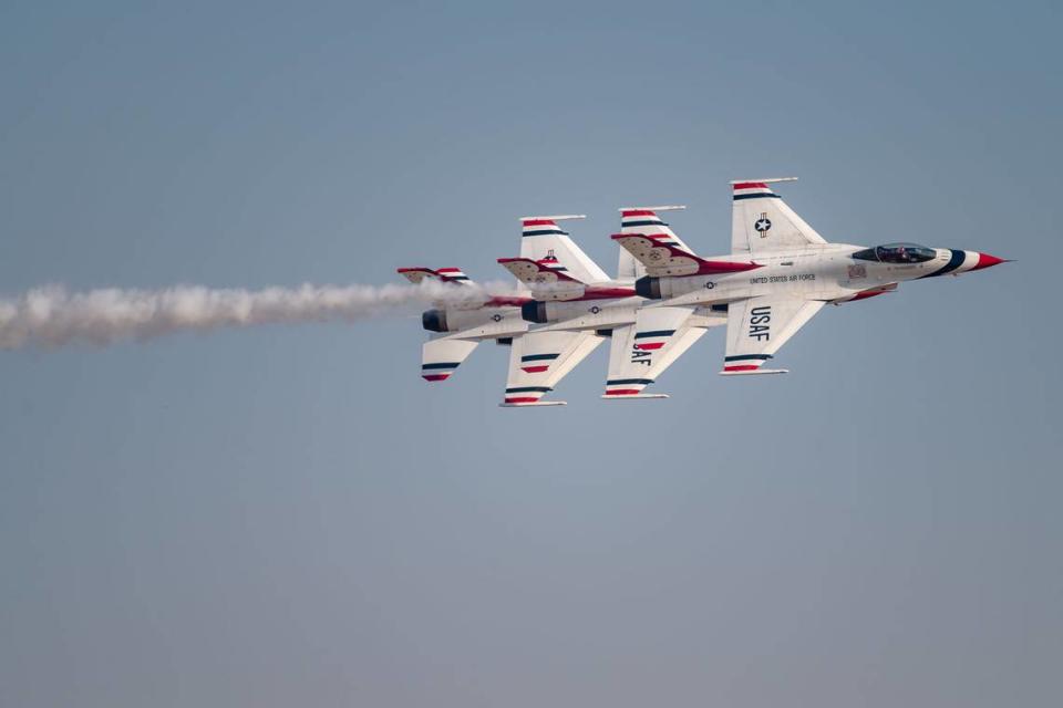
[[[0,299],[0,350],[64,344],[111,344],[186,330],[256,324],[353,322],[399,313],[413,305],[455,302],[475,306],[484,287],[310,285],[215,290],[180,285],[164,290],[102,289],[69,293],[59,285]]]

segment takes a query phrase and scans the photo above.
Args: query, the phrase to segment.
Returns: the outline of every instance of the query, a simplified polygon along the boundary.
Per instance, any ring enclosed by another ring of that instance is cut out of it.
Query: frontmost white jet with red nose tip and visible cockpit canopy
[[[726,313],[721,374],[782,374],[786,369],[762,366],[825,304],[880,295],[902,281],[957,275],[1004,262],[988,253],[916,243],[871,248],[828,243],[768,187],[793,179],[731,183],[730,256],[702,259],[652,232],[615,235],[646,268],[636,292],[659,301],[639,310],[636,330],[652,326],[660,337],[653,341],[667,342],[678,329],[661,324],[661,311],[678,317],[683,311],[709,308]]]

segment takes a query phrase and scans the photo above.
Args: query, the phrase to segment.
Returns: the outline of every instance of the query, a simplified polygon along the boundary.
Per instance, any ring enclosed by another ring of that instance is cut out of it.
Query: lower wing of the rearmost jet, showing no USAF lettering
[[[513,341],[503,406],[561,406],[539,400],[605,337],[594,332],[528,332]]]

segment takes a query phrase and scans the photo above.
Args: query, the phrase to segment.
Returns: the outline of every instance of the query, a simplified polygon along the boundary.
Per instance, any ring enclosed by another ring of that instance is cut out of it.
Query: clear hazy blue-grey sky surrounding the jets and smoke
[[[505,273],[617,207],[1019,262],[510,410],[416,319],[0,353],[0,705],[1063,702],[1059,3],[0,6],[0,291]],[[859,7],[858,7],[859,6]]]

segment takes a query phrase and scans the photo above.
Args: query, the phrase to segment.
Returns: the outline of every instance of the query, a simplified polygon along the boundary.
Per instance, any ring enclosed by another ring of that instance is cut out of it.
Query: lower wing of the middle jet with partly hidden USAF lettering
[[[667,398],[643,394],[711,326],[724,324],[723,315],[706,316],[695,306],[643,308],[634,324],[616,327],[609,348],[609,375],[602,398]]]

